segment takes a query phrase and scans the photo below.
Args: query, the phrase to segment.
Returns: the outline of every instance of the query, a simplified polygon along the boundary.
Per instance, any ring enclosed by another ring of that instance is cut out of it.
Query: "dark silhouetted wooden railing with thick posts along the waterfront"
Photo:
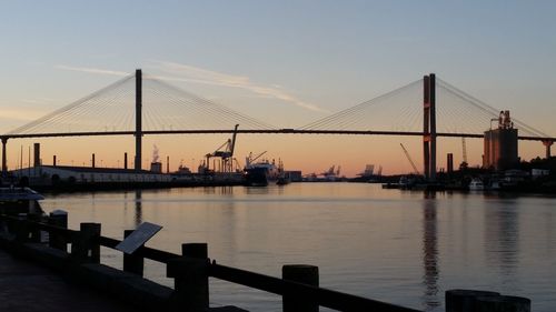
[[[38,218],[37,215],[10,217],[0,214],[0,225],[4,233],[11,235],[14,244],[40,243],[40,231],[49,233],[48,244],[57,250],[70,252],[70,263],[100,263],[100,246],[115,249],[120,240],[100,235],[99,223],[81,223],[80,230],[67,229],[67,214]],[[131,231],[126,231],[127,236]],[[47,243],[47,242],[43,242]],[[312,265],[284,265],[282,279],[250,272],[237,268],[218,264],[210,261],[206,243],[185,243],[181,254],[140,246],[132,254],[123,255],[123,272],[137,276],[143,275],[143,260],[149,259],[167,266],[167,276],[175,280],[173,293],[168,305],[170,311],[207,311],[209,309],[209,278],[216,278],[248,288],[266,291],[282,296],[282,310],[318,311],[326,306],[338,311],[381,311],[381,312],[417,312],[410,308],[385,303],[353,294],[332,291],[318,286],[318,268]],[[471,291],[473,292],[473,291]],[[467,301],[466,291],[451,291],[451,302],[447,302],[447,311],[464,310]],[[478,296],[503,298],[494,292],[471,293],[469,298]],[[448,296],[448,295],[447,295]],[[519,306],[530,306],[530,301],[515,298]],[[530,308],[529,308],[530,309]],[[485,310],[486,311],[486,310]],[[493,310],[494,311],[494,310]],[[500,310],[502,311],[502,310]],[[528,311],[528,310],[516,310]]]

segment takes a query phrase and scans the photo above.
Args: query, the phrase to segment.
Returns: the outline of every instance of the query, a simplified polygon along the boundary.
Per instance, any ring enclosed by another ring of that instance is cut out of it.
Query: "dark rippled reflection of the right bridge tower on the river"
[[[436,194],[425,193],[423,200],[423,284],[425,293],[423,305],[425,311],[433,311],[440,305],[438,298],[438,241],[436,219]]]

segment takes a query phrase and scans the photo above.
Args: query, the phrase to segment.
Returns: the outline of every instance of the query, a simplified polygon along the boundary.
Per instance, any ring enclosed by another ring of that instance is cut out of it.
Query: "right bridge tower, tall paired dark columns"
[[[425,179],[436,180],[436,78],[423,78],[423,165]]]

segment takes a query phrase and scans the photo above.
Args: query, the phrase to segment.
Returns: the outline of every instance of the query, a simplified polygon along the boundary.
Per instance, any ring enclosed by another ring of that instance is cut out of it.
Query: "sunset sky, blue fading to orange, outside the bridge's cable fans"
[[[434,72],[556,137],[555,1],[29,1],[0,0],[0,133],[83,98],[136,69],[277,128],[297,128]],[[485,128],[488,128],[486,124]],[[197,167],[229,135],[145,137]],[[41,143],[43,163],[121,165],[133,138],[10,140],[9,167]],[[268,151],[286,169],[353,177],[365,164],[421,167],[419,138],[240,135],[236,155]],[[467,141],[471,165],[483,142]],[[23,152],[22,152],[23,151]],[[461,160],[460,140],[440,139]],[[520,142],[519,155],[544,155]]]

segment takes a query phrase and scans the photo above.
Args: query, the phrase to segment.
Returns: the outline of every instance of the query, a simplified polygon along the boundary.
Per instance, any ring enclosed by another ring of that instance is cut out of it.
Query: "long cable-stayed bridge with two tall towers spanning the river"
[[[438,103],[438,104],[437,104]],[[434,73],[380,97],[299,128],[279,128],[178,89],[136,70],[119,81],[0,135],[2,173],[10,139],[133,135],[135,169],[141,169],[142,137],[201,133],[298,133],[423,137],[424,173],[436,175],[436,139],[483,138],[500,110]],[[539,141],[550,157],[556,137],[517,119],[519,140]],[[240,124],[240,129],[235,125]]]

